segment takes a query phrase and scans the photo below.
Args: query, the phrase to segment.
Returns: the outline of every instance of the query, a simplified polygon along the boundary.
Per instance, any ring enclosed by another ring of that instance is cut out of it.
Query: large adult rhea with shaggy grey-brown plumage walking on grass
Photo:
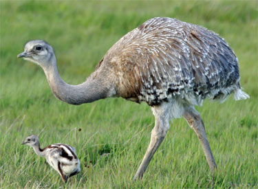
[[[58,74],[53,48],[45,41],[26,43],[18,57],[40,65],[52,93],[68,104],[108,97],[147,102],[155,116],[151,142],[133,179],[141,178],[169,130],[181,116],[197,134],[211,170],[217,167],[204,123],[194,106],[205,98],[246,99],[239,84],[238,60],[218,34],[171,18],[153,18],[125,34],[103,56],[80,85],[69,85]]]

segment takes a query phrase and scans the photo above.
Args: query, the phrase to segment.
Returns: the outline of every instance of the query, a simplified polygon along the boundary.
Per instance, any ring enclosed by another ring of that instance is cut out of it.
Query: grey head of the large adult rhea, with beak
[[[17,57],[36,63],[42,68],[45,68],[56,61],[54,49],[43,40],[29,41],[25,44],[24,52],[18,54]]]

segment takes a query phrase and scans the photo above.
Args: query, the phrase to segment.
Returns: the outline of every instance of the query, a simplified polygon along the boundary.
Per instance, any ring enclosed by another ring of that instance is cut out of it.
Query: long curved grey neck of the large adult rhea
[[[56,58],[52,57],[51,62],[48,64],[49,66],[43,67],[43,70],[45,71],[45,76],[50,84],[52,93],[59,100],[68,104],[78,105],[108,97],[110,86],[104,85],[103,80],[98,80],[94,77],[96,73],[93,73],[80,85],[69,85],[58,74]]]

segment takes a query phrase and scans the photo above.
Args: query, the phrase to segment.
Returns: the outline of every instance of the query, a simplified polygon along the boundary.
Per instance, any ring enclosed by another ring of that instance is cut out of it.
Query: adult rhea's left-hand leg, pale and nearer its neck
[[[133,180],[141,179],[144,171],[147,169],[151,158],[153,157],[155,151],[164,140],[167,131],[169,130],[169,113],[170,106],[169,104],[161,104],[151,108],[155,116],[155,126],[151,131],[151,142],[149,147],[142,159],[142,163],[138,168],[136,175],[133,177]]]

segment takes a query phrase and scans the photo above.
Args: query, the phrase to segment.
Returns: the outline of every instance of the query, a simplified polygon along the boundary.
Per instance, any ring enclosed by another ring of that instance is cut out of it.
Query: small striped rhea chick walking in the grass
[[[58,143],[41,149],[39,137],[36,135],[28,136],[21,144],[32,146],[36,155],[45,157],[47,163],[61,175],[65,183],[69,177],[80,173],[80,160],[72,146]]]

